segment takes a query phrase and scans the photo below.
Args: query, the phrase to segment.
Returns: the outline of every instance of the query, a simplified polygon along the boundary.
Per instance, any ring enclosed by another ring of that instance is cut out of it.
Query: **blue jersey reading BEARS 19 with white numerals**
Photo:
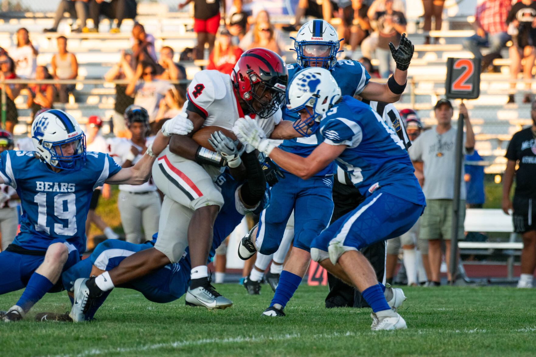
[[[4,151],[0,176],[20,197],[24,214],[13,244],[46,250],[56,239],[86,249],[86,218],[93,190],[121,167],[108,154],[87,152],[80,170],[55,173],[33,151]]]

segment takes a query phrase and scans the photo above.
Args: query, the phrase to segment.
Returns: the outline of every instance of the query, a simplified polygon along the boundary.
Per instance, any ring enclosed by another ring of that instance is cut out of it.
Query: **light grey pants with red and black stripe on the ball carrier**
[[[188,246],[188,225],[200,207],[224,205],[224,197],[212,177],[197,162],[175,155],[166,148],[153,164],[153,180],[164,199],[154,248],[176,263]]]

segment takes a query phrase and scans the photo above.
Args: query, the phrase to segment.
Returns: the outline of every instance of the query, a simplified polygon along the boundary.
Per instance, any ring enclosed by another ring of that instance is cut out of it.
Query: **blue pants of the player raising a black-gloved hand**
[[[294,210],[294,247],[309,251],[311,241],[330,222],[333,213],[333,176],[302,180],[285,173],[270,190],[270,206],[260,213],[256,246],[260,254],[277,251],[288,218]]]

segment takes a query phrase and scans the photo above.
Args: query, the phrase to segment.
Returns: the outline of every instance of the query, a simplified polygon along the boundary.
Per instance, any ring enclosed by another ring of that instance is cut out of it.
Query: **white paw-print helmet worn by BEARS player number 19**
[[[86,136],[75,118],[65,111],[43,111],[35,117],[31,135],[35,151],[50,166],[64,170],[84,167]]]

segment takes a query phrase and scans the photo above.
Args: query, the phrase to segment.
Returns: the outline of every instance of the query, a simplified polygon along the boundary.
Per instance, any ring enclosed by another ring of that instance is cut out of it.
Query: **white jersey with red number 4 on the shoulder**
[[[183,111],[191,102],[206,115],[203,127],[216,125],[233,131],[235,121],[244,116],[233,89],[233,82],[230,76],[224,73],[214,70],[197,72],[188,86],[187,96]],[[274,126],[281,122],[281,109],[269,118],[252,118],[263,128],[266,136],[270,137]]]

